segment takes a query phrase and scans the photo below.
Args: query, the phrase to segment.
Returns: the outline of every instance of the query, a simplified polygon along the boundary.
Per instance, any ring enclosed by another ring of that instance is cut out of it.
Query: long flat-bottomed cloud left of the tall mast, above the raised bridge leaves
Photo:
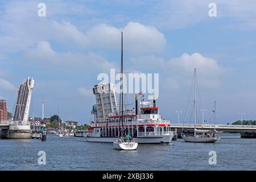
[[[72,53],[55,52],[51,45],[42,41],[39,42],[36,48],[28,49],[23,56],[28,63],[40,66],[64,67],[70,69],[84,69],[85,71],[109,71],[110,68],[115,68],[115,65],[110,63],[104,57],[96,53]]]

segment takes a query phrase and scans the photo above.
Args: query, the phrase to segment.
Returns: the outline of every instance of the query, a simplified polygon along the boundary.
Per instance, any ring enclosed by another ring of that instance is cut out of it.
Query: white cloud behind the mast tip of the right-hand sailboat
[[[159,73],[159,80],[165,88],[177,90],[191,84],[193,70],[197,69],[197,77],[200,85],[205,88],[218,88],[220,76],[225,68],[212,58],[205,57],[200,53],[188,55],[183,53],[180,57],[164,60],[155,56],[142,56],[131,58],[131,63],[137,69]]]

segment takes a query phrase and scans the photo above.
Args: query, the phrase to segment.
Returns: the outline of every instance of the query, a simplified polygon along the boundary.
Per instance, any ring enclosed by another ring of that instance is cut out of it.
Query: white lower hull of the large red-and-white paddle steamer
[[[149,135],[135,138],[138,143],[170,143],[173,134],[170,135]],[[116,138],[114,137],[85,137],[88,142],[109,142],[112,143]]]

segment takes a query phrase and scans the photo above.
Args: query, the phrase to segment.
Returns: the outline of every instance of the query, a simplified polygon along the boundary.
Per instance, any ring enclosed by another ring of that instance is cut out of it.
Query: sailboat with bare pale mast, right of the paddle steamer
[[[193,107],[194,107],[194,133],[193,136],[188,136],[183,133],[183,128],[181,132],[181,137],[185,142],[201,142],[201,143],[214,143],[219,140],[219,137],[215,137],[214,132],[210,130],[198,130],[196,129],[197,123],[197,116],[196,116],[196,69],[194,71],[193,82],[194,83],[194,100],[193,100]],[[190,95],[189,95],[190,97]],[[215,108],[214,108],[215,109]],[[187,111],[186,111],[187,113]],[[184,121],[185,122],[185,121]]]

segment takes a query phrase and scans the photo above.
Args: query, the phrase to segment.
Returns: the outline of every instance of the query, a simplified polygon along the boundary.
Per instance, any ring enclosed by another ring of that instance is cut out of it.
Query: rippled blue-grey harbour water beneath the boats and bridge
[[[137,151],[117,151],[111,143],[47,136],[0,139],[0,170],[255,170],[256,139],[222,139],[218,143],[139,144]],[[38,152],[46,151],[46,165]],[[217,164],[209,165],[209,151]]]

